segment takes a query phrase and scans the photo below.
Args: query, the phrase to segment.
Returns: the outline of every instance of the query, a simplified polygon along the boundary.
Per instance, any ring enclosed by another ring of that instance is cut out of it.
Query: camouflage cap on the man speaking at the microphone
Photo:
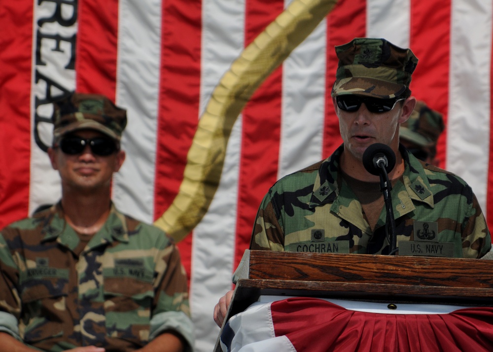
[[[386,39],[354,38],[336,46],[339,66],[332,97],[358,94],[380,99],[411,95],[411,75],[418,58]]]

